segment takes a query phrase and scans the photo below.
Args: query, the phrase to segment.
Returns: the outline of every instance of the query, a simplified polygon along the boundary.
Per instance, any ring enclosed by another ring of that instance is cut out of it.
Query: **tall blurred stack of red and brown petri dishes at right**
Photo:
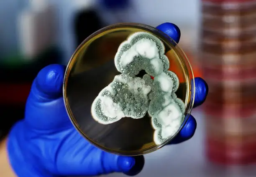
[[[200,45],[207,157],[256,162],[256,0],[202,0]]]

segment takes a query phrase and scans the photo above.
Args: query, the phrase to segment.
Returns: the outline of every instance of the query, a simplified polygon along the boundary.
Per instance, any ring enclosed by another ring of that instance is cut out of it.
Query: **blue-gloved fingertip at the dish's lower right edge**
[[[195,118],[192,115],[190,115],[182,130],[169,144],[178,144],[189,140],[195,134],[196,128],[197,122]]]

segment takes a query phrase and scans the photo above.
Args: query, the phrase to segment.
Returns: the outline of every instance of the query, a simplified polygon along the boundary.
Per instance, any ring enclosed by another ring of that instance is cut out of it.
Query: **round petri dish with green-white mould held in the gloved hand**
[[[158,150],[182,129],[195,81],[189,60],[168,35],[121,23],[79,45],[67,65],[63,94],[69,118],[86,140],[106,152],[135,156]]]

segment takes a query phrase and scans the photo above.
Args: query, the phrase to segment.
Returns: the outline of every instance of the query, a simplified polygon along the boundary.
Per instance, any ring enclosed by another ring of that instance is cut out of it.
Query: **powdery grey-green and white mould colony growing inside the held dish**
[[[148,113],[156,145],[172,138],[184,120],[185,105],[175,94],[179,79],[168,71],[164,50],[161,40],[148,32],[128,37],[115,55],[115,67],[121,74],[95,98],[92,117],[101,124],[111,124],[125,117],[140,119]],[[136,77],[141,70],[147,74]]]

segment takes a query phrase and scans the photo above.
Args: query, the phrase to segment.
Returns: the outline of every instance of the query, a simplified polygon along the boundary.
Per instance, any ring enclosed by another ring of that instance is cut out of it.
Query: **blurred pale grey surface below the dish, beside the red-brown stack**
[[[197,120],[194,137],[178,145],[167,145],[145,155],[145,166],[136,177],[255,177],[256,165],[224,167],[205,159],[204,116],[200,109],[192,112]],[[107,177],[125,177],[114,173]]]

